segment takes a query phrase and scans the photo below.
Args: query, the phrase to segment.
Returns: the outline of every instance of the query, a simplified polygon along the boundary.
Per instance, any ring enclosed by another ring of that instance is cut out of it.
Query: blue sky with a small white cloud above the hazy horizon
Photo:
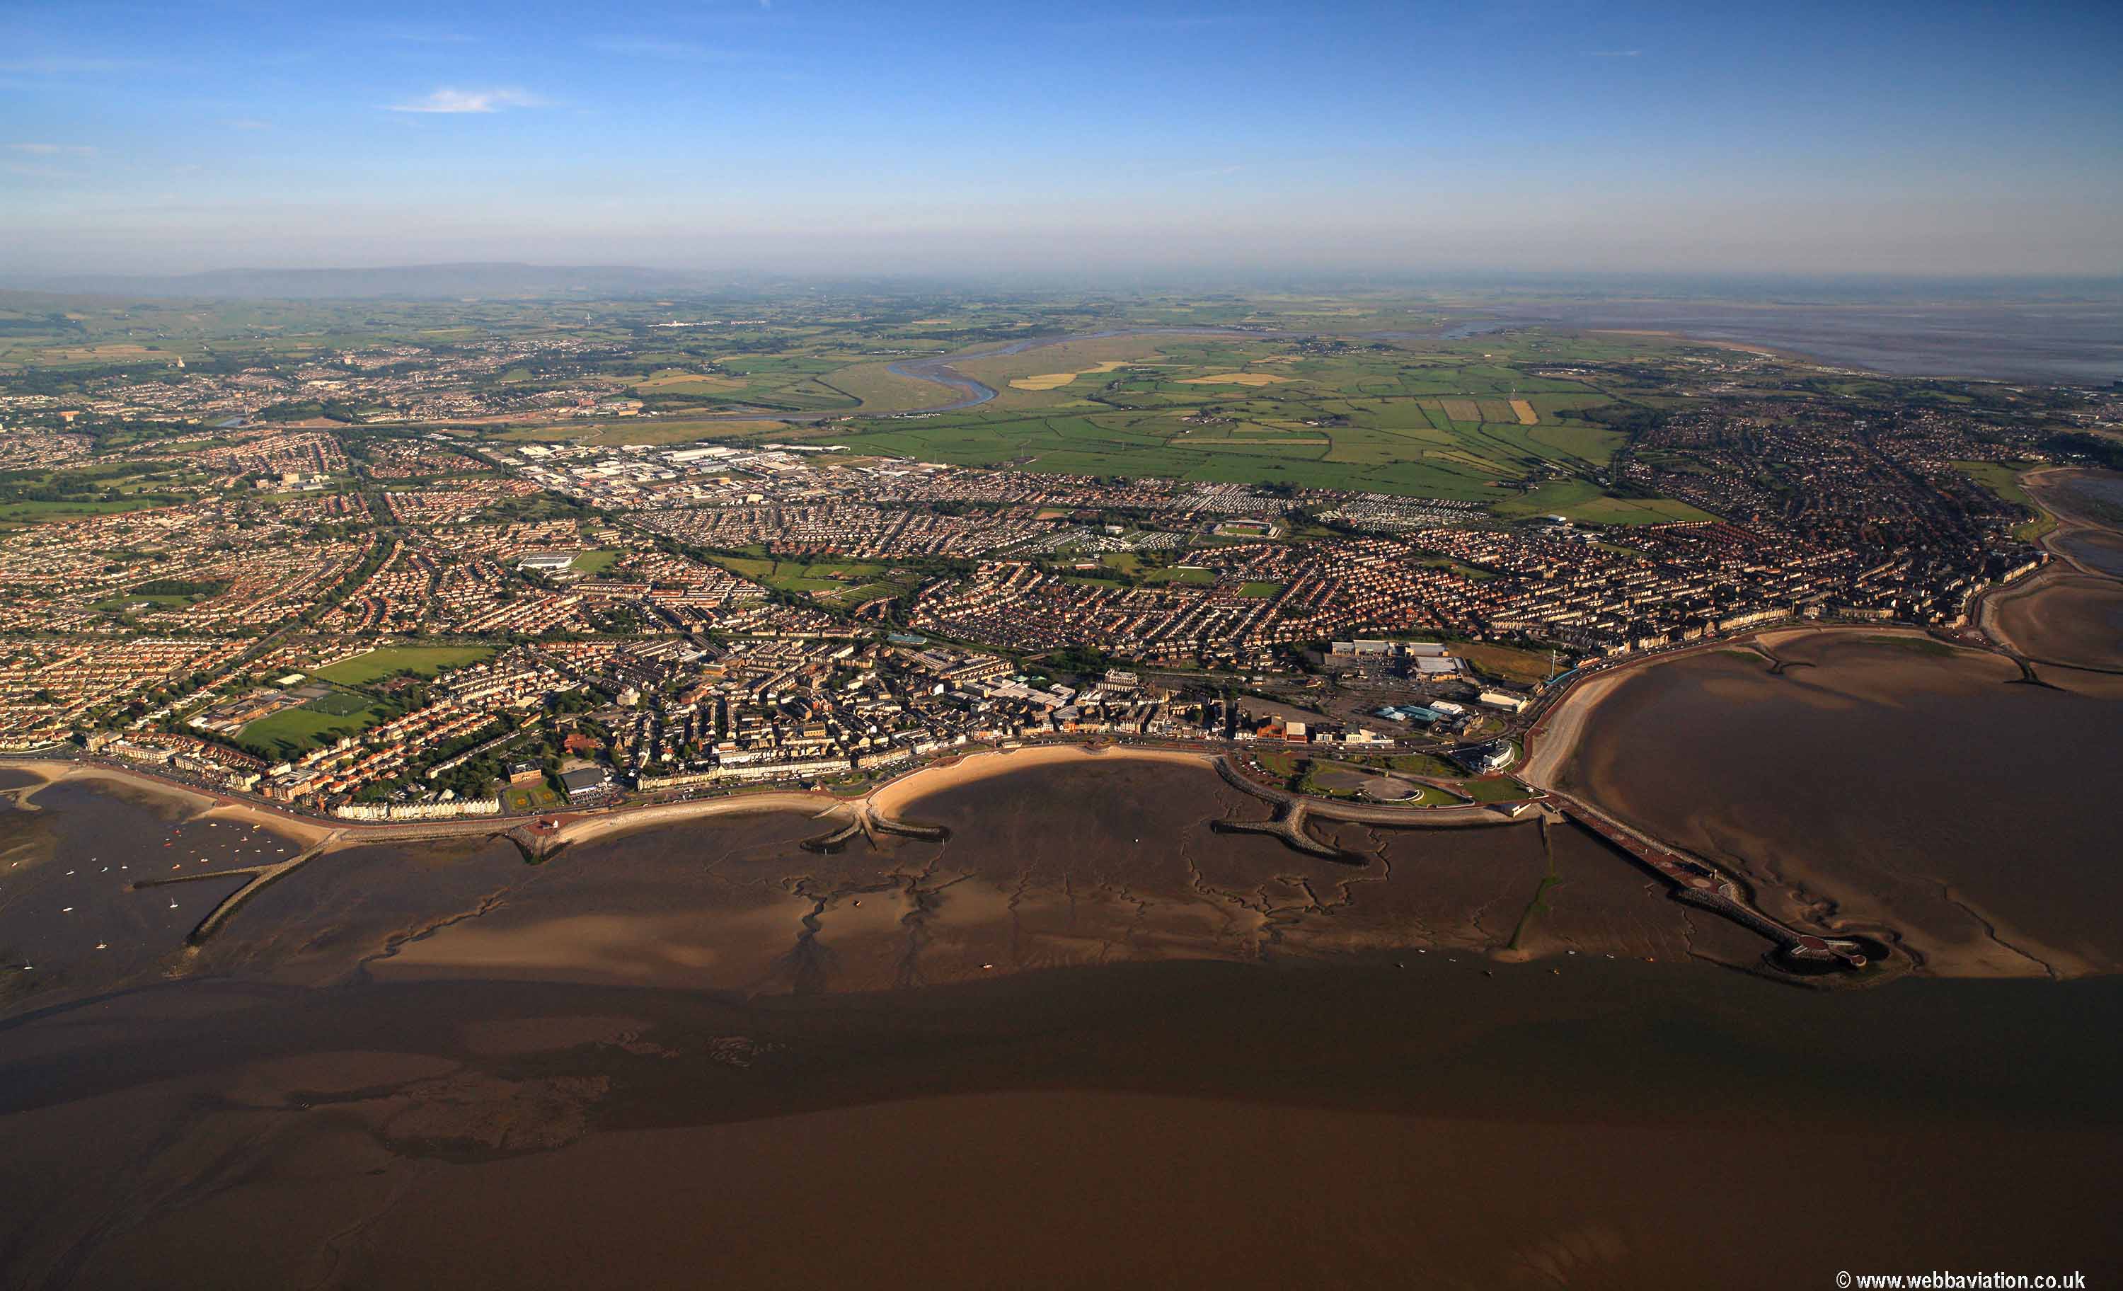
[[[2123,272],[2123,4],[0,2],[0,272]]]

